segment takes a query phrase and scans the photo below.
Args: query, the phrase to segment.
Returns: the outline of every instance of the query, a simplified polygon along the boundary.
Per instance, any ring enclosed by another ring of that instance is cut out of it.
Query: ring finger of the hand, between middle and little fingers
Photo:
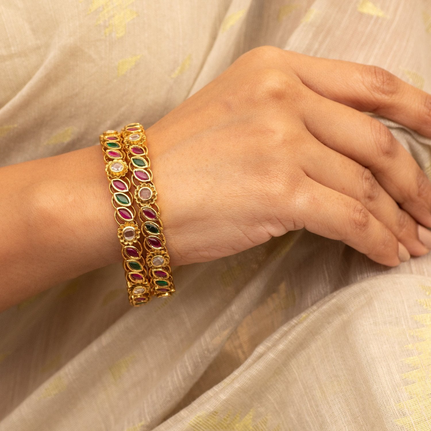
[[[400,209],[369,169],[331,150],[311,135],[309,144],[309,150],[301,157],[301,167],[309,178],[362,203],[410,254],[422,256],[429,252],[419,240],[418,224],[408,212]]]

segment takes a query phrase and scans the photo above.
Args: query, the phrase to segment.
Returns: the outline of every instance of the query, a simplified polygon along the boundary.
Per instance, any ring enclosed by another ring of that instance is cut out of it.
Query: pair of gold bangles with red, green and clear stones
[[[119,224],[117,235],[122,246],[129,302],[141,306],[153,296],[170,296],[175,287],[144,128],[132,123],[120,133],[107,130],[99,138]]]

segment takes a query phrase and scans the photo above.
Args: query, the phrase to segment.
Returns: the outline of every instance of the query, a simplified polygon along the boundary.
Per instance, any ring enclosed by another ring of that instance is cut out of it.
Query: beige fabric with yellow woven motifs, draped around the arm
[[[3,165],[148,127],[264,44],[431,91],[430,0],[3,1],[0,23]],[[430,175],[431,140],[382,121]],[[82,275],[0,314],[0,430],[431,430],[430,272],[301,230],[139,309],[118,265]]]

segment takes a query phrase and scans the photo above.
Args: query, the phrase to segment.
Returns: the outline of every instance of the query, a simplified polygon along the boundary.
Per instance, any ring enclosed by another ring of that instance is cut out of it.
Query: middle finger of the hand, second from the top
[[[431,182],[390,130],[377,119],[312,91],[308,100],[303,121],[310,133],[367,167],[405,211],[431,228]]]

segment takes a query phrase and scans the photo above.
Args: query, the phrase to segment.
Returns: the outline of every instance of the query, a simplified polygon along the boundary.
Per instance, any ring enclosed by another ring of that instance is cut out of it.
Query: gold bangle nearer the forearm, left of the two
[[[100,145],[106,163],[109,191],[112,193],[112,206],[115,219],[119,224],[117,236],[122,246],[123,266],[127,281],[129,302],[133,306],[147,303],[153,296],[147,280],[147,269],[139,243],[140,230],[135,222],[136,212],[131,195],[131,182],[127,177],[128,166],[125,159],[121,135],[108,130],[100,135]]]

